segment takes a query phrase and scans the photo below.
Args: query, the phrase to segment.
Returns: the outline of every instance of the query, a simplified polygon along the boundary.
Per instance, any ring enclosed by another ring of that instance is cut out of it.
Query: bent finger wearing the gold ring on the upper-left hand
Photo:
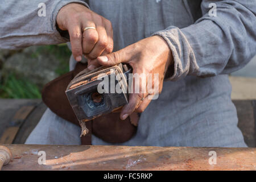
[[[94,23],[85,23],[85,24],[83,24],[82,27],[84,27],[84,28],[95,27],[95,24]],[[97,41],[98,41],[98,32],[96,29],[85,30],[82,33],[82,52],[85,55],[89,54],[92,51],[95,44],[97,43]]]

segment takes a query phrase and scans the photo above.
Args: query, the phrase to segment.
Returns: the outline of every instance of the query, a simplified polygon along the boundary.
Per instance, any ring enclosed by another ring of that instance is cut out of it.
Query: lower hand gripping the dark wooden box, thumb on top
[[[149,96],[159,94],[162,91],[164,74],[168,66],[173,63],[173,57],[171,49],[163,38],[151,36],[117,52],[100,56],[93,61],[105,66],[127,63],[133,67],[133,74],[144,73],[146,76],[148,73],[152,74],[152,83],[147,82],[147,77],[142,77],[139,83],[133,80],[133,88],[136,87],[136,84],[139,84],[140,89],[139,93],[135,93],[133,90],[133,93],[129,95],[129,104],[123,106],[120,117],[126,119],[134,110],[143,112],[150,104]],[[159,74],[158,85],[154,85],[154,73]],[[143,81],[145,84],[142,84]],[[152,84],[152,87],[158,86],[157,93],[149,93],[146,89],[148,84]],[[146,89],[146,92],[141,92],[143,89]]]

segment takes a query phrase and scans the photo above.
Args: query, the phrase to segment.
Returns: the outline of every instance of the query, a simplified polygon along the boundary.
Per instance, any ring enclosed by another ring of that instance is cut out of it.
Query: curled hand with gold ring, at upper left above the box
[[[70,3],[62,7],[57,14],[56,23],[60,30],[68,30],[72,53],[77,61],[81,61],[83,54],[90,61],[113,51],[111,22],[84,5]],[[83,32],[86,27],[95,27],[96,30],[88,29]]]

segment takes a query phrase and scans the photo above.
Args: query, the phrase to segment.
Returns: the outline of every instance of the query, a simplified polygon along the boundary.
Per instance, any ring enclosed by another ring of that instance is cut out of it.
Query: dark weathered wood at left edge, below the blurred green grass
[[[41,100],[0,99],[0,143],[24,143],[45,110]]]

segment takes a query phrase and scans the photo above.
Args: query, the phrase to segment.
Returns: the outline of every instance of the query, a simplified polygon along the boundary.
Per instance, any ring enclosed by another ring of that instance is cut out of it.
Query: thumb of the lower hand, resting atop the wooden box
[[[109,53],[105,56],[97,57],[97,61],[100,65],[113,66],[119,63],[127,63],[131,56],[127,54],[126,48],[120,49],[117,52]]]

